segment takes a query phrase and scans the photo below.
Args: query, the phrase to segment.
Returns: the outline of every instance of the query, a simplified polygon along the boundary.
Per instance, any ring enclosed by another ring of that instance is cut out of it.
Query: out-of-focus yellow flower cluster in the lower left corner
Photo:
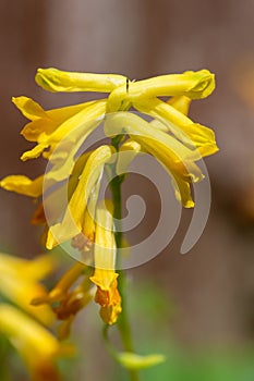
[[[0,296],[5,298],[0,303],[0,334],[19,351],[36,381],[59,380],[56,359],[70,352],[48,329],[55,320],[49,306],[31,305],[33,298],[47,295],[39,281],[55,267],[50,256],[26,260],[0,254]]]

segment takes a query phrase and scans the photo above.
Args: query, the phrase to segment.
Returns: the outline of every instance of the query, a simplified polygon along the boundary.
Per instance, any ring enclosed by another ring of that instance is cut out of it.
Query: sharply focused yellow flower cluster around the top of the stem
[[[213,131],[194,123],[188,112],[192,99],[210,95],[215,81],[207,70],[131,82],[116,74],[39,69],[36,82],[49,91],[109,94],[100,100],[48,111],[27,97],[13,98],[14,105],[31,120],[21,134],[35,143],[21,159],[41,156],[49,161],[50,170],[35,180],[24,175],[7,176],[0,183],[1,187],[36,199],[44,196],[44,205],[39,205],[32,221],[45,225],[48,249],[71,239],[81,258],[93,254],[89,265],[95,267],[94,274],[89,274],[84,265],[76,265],[48,296],[34,300],[34,304],[59,303],[55,312],[64,320],[64,336],[75,314],[93,297],[101,306],[100,316],[106,323],[114,323],[121,312],[116,272],[114,206],[99,200],[105,169],[111,169],[116,175],[122,173],[122,168],[128,165],[126,162],[120,165],[119,153],[122,151],[131,152],[131,160],[142,152],[152,155],[171,176],[182,206],[193,207],[191,184],[203,179],[196,162],[218,148]],[[152,121],[130,112],[131,108],[149,115]],[[78,156],[85,139],[101,123],[111,144]],[[59,201],[58,188],[64,182],[68,184],[66,200]],[[58,212],[46,212],[45,205],[49,199],[61,204]],[[81,276],[82,282],[71,290]]]

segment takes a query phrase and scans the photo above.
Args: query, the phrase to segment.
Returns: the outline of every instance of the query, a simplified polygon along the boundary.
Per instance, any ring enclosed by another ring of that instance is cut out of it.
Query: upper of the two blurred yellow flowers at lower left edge
[[[55,266],[49,256],[26,260],[0,253],[0,294],[49,325],[55,318],[50,308],[47,305],[37,308],[31,302],[35,297],[47,295],[46,288],[38,281],[49,274]]]

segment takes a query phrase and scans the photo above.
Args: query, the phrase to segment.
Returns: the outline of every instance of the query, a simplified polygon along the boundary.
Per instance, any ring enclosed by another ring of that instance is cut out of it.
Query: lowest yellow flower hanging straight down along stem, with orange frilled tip
[[[100,304],[100,316],[108,324],[113,324],[121,314],[121,296],[116,273],[116,242],[113,234],[112,205],[101,202],[96,210],[95,272],[90,281],[97,285],[95,302]],[[109,210],[110,209],[110,210]]]

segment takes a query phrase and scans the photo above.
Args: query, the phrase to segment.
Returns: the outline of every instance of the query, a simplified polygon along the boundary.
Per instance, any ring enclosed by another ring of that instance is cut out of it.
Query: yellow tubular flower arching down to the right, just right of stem
[[[140,146],[135,145],[130,149],[143,150],[155,156],[172,176],[178,199],[182,201],[184,207],[193,207],[190,183],[203,179],[201,170],[195,164],[195,161],[201,159],[198,151],[188,148],[165,132],[155,130],[138,115],[129,112],[109,115],[105,124],[105,133],[112,136],[121,133],[122,130],[140,144]]]

